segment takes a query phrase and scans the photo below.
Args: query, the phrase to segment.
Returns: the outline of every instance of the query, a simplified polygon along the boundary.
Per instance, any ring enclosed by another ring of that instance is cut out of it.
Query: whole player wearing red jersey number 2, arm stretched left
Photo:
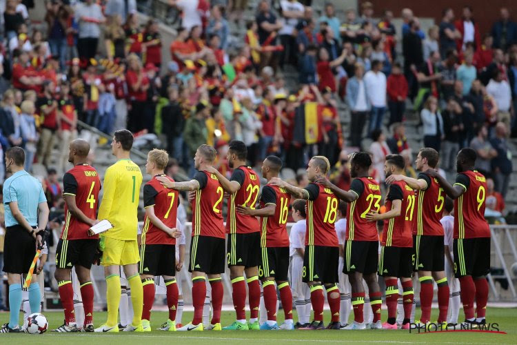
[[[203,305],[206,278],[212,288],[212,331],[221,331],[223,282],[225,271],[225,229],[223,224],[223,187],[212,172],[216,150],[209,145],[199,146],[194,156],[194,168],[199,170],[194,179],[173,182],[168,177],[157,179],[167,188],[195,191],[192,199],[192,240],[190,242],[189,272],[192,273],[192,304],[194,318],[177,331],[203,331]],[[173,266],[174,267],[174,266]]]

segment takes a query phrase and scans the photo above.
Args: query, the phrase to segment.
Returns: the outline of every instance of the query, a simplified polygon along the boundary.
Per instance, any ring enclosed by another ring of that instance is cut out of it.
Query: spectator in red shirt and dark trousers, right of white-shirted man
[[[395,122],[402,122],[404,120],[408,88],[407,81],[402,74],[400,63],[394,63],[392,74],[389,75],[386,83],[388,95],[387,103],[389,108],[389,127]]]

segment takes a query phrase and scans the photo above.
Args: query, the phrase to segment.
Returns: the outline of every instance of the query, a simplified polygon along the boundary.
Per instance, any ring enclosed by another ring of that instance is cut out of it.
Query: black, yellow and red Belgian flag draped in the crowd
[[[321,106],[316,102],[306,102],[296,108],[294,114],[293,141],[312,145],[322,139]]]

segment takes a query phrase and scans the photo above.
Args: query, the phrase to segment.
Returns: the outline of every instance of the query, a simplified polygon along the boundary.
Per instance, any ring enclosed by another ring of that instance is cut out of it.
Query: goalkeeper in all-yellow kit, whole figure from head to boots
[[[101,236],[106,277],[106,300],[108,320],[95,332],[118,332],[119,302],[121,284],[119,266],[123,266],[125,277],[131,287],[133,322],[124,331],[142,332],[143,289],[138,264],[139,248],[136,241],[142,173],[139,166],[130,159],[133,135],[129,130],[117,130],[113,136],[112,154],[115,164],[104,175],[104,194],[99,208],[99,219],[108,219],[113,228]]]

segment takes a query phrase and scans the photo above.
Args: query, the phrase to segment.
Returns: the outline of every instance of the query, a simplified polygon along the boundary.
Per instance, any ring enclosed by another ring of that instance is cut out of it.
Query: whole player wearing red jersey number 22
[[[232,140],[228,145],[227,159],[230,168],[234,169],[228,180],[216,168],[208,172],[216,175],[228,197],[228,214],[226,219],[227,260],[232,279],[232,298],[236,313],[236,321],[225,330],[259,329],[259,304],[261,302],[261,286],[259,284],[259,262],[261,258],[261,230],[259,221],[251,215],[236,212],[236,206],[255,208],[259,198],[261,183],[259,176],[246,166],[247,148],[243,141]],[[246,286],[250,302],[250,322],[246,323],[245,303]]]

